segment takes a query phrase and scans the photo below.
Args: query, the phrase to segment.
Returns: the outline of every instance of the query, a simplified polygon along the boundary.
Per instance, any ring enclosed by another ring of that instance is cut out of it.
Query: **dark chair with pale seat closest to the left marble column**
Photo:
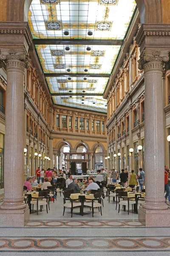
[[[32,212],[34,211],[34,205],[37,205],[37,215],[38,215],[38,206],[40,205],[40,211],[42,212],[43,205],[46,205],[46,211],[48,213],[48,191],[39,191],[38,197],[34,197],[32,195],[32,199],[30,204],[32,204]],[[45,200],[44,200],[45,199]]]

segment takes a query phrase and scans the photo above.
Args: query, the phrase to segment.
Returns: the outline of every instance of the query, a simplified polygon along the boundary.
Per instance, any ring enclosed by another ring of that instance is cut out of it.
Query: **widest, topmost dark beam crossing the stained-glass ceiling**
[[[65,44],[82,44],[82,45],[122,45],[123,40],[105,40],[105,39],[70,39],[70,40],[60,40],[60,39],[33,39],[35,44],[54,44],[54,45],[65,45]]]

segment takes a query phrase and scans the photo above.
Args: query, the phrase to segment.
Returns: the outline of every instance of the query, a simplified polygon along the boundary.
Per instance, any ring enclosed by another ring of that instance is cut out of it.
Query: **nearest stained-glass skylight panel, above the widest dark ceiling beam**
[[[136,2],[112,2],[33,0],[28,14],[32,34],[34,38],[124,39]],[[67,36],[63,34],[66,30]]]

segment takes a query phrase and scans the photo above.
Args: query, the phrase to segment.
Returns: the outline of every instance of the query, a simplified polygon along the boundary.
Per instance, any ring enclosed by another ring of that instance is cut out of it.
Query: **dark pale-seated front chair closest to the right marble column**
[[[128,207],[128,215],[129,215],[129,206],[132,206],[132,212],[133,212],[133,204],[136,204],[136,201],[133,200],[135,199],[135,197],[133,198],[129,198],[127,197],[127,192],[126,191],[118,191],[118,199],[119,199],[119,211],[120,211],[120,205],[124,206],[124,211],[125,211],[125,207]],[[120,201],[120,199],[123,199],[122,201]],[[118,211],[118,213],[119,213]]]

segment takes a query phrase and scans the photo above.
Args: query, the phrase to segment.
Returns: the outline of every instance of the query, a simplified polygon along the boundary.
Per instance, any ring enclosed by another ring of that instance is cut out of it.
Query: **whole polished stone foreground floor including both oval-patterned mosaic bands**
[[[32,213],[24,228],[0,228],[2,256],[170,256],[169,228],[145,228],[138,215],[115,210],[104,199],[102,216],[98,209],[92,218],[73,214],[62,216],[63,199],[50,202],[48,214]],[[78,213],[79,209],[74,209]]]

